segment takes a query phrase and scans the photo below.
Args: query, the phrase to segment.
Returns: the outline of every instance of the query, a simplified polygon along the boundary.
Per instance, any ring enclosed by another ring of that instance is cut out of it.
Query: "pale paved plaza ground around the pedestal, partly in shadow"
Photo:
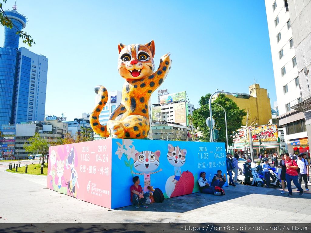
[[[311,192],[237,185],[224,196],[191,194],[148,208],[109,210],[46,187],[45,176],[0,168],[0,223],[311,223]],[[147,212],[147,213],[146,213]]]

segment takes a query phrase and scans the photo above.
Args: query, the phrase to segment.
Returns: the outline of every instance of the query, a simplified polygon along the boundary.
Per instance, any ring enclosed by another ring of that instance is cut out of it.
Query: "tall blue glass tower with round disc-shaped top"
[[[19,45],[16,32],[26,18],[16,10],[5,11],[13,28],[4,29],[0,47],[0,127],[3,124],[44,120],[48,59]],[[41,77],[40,77],[41,76]]]

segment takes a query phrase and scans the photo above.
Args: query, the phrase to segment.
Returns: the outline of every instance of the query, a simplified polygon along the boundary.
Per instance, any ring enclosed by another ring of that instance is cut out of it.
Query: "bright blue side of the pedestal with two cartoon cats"
[[[153,186],[165,198],[198,192],[201,172],[209,182],[218,169],[226,173],[225,157],[222,142],[112,139],[111,208],[132,204],[134,176],[144,192]]]

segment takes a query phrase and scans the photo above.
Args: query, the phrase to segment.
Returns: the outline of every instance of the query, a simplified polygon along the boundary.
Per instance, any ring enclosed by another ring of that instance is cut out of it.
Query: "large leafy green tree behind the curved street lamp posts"
[[[193,126],[198,128],[202,132],[203,137],[201,141],[210,141],[209,128],[206,125],[206,119],[210,116],[209,113],[209,98],[211,94],[201,96],[199,104],[200,108],[193,112]],[[230,98],[226,97],[225,94],[220,94],[215,101],[212,102],[212,113],[213,119],[215,120],[214,129],[219,130],[218,142],[226,142],[226,130],[225,130],[225,113],[224,110],[214,104],[221,105],[227,114],[227,129],[228,129],[228,143],[231,145],[235,134],[238,129],[241,128],[242,119],[246,116],[246,112],[241,110],[236,103]]]

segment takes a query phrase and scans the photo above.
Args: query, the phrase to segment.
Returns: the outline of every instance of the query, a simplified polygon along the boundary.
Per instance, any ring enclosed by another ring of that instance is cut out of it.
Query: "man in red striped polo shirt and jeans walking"
[[[299,196],[301,196],[304,193],[304,190],[301,188],[301,185],[298,182],[298,172],[296,169],[298,169],[298,165],[295,160],[290,159],[290,155],[288,153],[284,154],[285,159],[285,166],[286,166],[286,182],[287,182],[287,188],[288,188],[288,196],[292,196],[292,188],[291,188],[291,181],[293,181],[294,185],[299,190]]]

